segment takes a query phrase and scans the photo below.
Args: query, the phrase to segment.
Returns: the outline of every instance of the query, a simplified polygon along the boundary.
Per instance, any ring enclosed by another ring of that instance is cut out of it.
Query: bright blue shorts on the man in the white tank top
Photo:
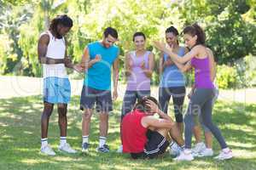
[[[70,82],[68,78],[44,78],[44,102],[67,104],[70,101]]]

